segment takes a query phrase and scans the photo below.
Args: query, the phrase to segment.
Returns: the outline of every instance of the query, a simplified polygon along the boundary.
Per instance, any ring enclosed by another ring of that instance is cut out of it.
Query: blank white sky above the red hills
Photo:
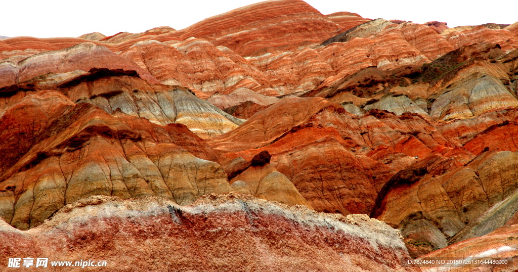
[[[220,13],[261,1],[206,0],[0,0],[0,35],[77,37],[91,32],[110,36],[138,33],[167,25],[177,30]],[[356,12],[364,18],[399,19],[424,23],[447,22],[448,26],[483,23],[512,24],[518,21],[518,0],[307,0],[324,15]],[[479,2],[480,3],[480,2]],[[492,3],[495,3],[494,5]]]

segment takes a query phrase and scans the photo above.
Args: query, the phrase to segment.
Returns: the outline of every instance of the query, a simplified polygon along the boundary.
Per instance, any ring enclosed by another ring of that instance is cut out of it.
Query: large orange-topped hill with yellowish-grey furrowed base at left
[[[52,91],[21,99],[0,124],[0,215],[22,230],[90,195],[185,205],[231,190],[213,151],[183,125],[111,115]]]

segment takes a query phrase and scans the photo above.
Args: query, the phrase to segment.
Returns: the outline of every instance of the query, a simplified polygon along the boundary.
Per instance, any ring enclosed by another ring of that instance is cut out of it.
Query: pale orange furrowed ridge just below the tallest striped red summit
[[[234,91],[278,95],[257,68],[232,50],[195,38],[174,46],[155,40],[141,41],[121,55],[149,70],[163,84],[181,85],[204,95],[226,96]],[[239,96],[238,93],[233,96]],[[241,97],[241,102],[247,101]],[[218,106],[228,105],[227,102]]]

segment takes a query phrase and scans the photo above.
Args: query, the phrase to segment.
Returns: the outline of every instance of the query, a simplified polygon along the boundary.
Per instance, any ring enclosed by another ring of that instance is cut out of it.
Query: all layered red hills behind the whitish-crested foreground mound
[[[517,107],[516,24],[282,0],[179,31],[2,39],[0,216],[26,230],[90,195],[234,190],[371,214],[418,257],[518,223]]]

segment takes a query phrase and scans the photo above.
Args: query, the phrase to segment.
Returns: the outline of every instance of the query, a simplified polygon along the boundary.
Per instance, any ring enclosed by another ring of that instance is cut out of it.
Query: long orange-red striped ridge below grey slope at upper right
[[[272,88],[281,94],[289,94],[333,85],[369,66],[386,70],[409,64],[421,65],[454,49],[425,25],[389,23],[379,31],[378,24],[359,25],[355,28],[359,36],[346,42],[295,53],[266,54],[249,60],[263,71]]]

